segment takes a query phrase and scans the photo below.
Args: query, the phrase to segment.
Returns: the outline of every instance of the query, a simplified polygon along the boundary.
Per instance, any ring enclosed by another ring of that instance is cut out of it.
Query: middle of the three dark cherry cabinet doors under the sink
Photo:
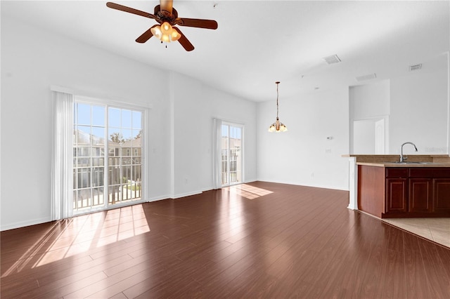
[[[432,179],[409,179],[409,212],[432,212]]]

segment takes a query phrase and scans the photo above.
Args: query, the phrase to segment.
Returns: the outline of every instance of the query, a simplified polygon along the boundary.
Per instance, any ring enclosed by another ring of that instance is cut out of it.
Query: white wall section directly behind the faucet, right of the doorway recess
[[[420,71],[391,79],[390,153],[448,154],[449,62],[440,55]]]

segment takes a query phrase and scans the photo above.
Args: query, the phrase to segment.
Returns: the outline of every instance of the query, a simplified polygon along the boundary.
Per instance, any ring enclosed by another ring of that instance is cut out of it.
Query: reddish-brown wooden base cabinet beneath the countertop
[[[450,168],[359,165],[358,207],[380,218],[450,217]]]

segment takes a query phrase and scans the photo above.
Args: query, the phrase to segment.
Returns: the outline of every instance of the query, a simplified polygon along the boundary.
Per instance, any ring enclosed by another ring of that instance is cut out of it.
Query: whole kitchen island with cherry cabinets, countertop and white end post
[[[378,218],[450,217],[447,155],[346,155],[350,161],[349,208]]]

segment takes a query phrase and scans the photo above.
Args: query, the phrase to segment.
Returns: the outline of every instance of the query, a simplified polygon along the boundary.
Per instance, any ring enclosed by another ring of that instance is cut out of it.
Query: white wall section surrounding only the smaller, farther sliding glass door
[[[181,74],[174,74],[173,83],[176,88],[172,197],[211,189],[214,117],[244,125],[244,180],[256,180],[255,102],[240,100]]]

